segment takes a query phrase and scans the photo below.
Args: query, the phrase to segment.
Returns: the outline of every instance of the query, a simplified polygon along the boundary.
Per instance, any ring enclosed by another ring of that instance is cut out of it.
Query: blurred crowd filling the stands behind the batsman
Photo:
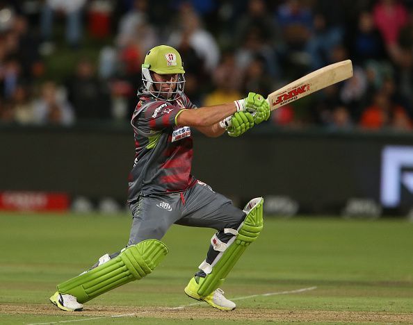
[[[94,39],[105,40],[97,60],[81,56]],[[63,81],[46,78],[62,42],[79,53],[76,65]],[[273,111],[266,124],[413,127],[413,0],[0,1],[0,124],[129,120],[140,65],[158,44],[181,53],[197,106],[266,96],[350,58],[353,78]]]

